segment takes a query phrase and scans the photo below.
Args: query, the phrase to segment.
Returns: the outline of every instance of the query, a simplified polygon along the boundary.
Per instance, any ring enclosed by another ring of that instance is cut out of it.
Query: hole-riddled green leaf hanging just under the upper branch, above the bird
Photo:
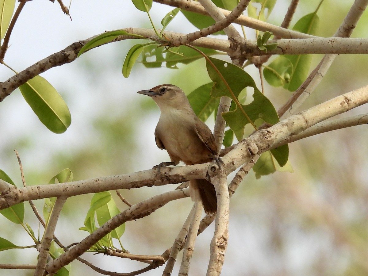
[[[207,56],[218,54],[216,50],[205,49],[197,47]],[[170,52],[166,51],[164,47],[157,47],[156,45],[149,45],[144,47],[142,63],[147,68],[157,68],[166,63],[166,67],[176,69],[178,63],[189,64],[192,61],[201,59],[203,56],[196,50],[187,46],[172,47]]]

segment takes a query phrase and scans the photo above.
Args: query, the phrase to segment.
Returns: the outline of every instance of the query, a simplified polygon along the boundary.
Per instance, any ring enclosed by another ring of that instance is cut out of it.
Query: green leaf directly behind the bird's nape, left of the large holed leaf
[[[206,121],[217,106],[219,99],[211,97],[213,82],[199,86],[188,95],[188,100],[194,113],[202,120]]]

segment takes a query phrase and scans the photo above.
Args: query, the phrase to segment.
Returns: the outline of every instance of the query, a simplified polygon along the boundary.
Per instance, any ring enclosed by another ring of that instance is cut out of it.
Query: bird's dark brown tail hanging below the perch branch
[[[207,215],[213,215],[217,211],[217,199],[215,187],[205,179],[192,179],[189,181],[190,197],[192,201],[202,201]]]

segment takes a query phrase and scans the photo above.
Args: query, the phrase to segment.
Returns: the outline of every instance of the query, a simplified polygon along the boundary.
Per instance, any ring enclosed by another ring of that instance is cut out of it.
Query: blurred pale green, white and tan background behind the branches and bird
[[[300,2],[292,26],[319,3]],[[318,35],[332,36],[352,3],[325,0],[318,11]],[[288,5],[289,1],[278,0],[268,21],[280,25]],[[153,3],[151,15],[159,24],[171,9]],[[148,27],[146,15],[130,1],[104,4],[74,1],[70,12],[72,21],[57,5],[45,1],[27,3],[11,38],[7,64],[20,71],[72,42],[105,30]],[[368,15],[364,13],[352,37],[367,38],[367,21]],[[195,27],[178,14],[168,30],[187,33]],[[246,28],[246,32],[249,39],[255,39],[255,31]],[[209,82],[205,62],[180,64],[177,70],[146,69],[137,64],[125,79],[121,66],[132,45],[132,41],[123,41],[102,46],[71,64],[42,74],[70,108],[72,124],[64,134],[47,130],[18,90],[1,102],[0,169],[18,186],[21,178],[14,149],[20,153],[27,185],[46,184],[64,168],[70,168],[74,180],[80,180],[146,170],[168,160],[167,153],[156,147],[153,136],[159,110],[152,100],[135,92],[172,83],[189,93]],[[321,57],[313,56],[311,68]],[[367,85],[367,59],[362,55],[338,56],[302,109]],[[258,70],[250,66],[245,70],[260,88]],[[1,81],[11,75],[6,68],[0,68]],[[291,94],[266,84],[265,95],[277,110]],[[366,112],[367,107],[362,106],[341,116]],[[213,116],[207,123],[213,127]],[[294,173],[276,172],[255,180],[251,171],[231,199],[230,239],[222,275],[367,275],[367,134],[367,127],[362,125],[290,144]],[[120,192],[134,204],[173,188],[166,185]],[[56,236],[64,245],[85,237],[86,233],[78,228],[83,226],[91,197],[68,199],[56,229]],[[121,210],[126,208],[116,201]],[[41,209],[43,201],[35,204]],[[170,202],[149,217],[127,223],[121,238],[124,247],[132,254],[162,254],[171,246],[191,206],[190,199]],[[33,230],[38,229],[30,208],[26,209],[25,220]],[[2,216],[0,225],[1,237],[17,245],[32,243],[20,227]],[[199,237],[191,275],[205,274],[212,233],[211,226]],[[2,263],[35,263],[36,253],[32,249],[12,250],[0,252],[0,259]],[[83,257],[117,272],[141,268],[139,263],[109,256]],[[71,275],[83,273],[97,275],[74,262]],[[158,268],[147,275],[161,273],[162,268]],[[32,272],[1,270],[0,275],[32,275]]]

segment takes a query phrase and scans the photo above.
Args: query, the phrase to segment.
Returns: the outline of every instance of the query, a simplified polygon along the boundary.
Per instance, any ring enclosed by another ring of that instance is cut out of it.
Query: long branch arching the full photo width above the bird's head
[[[125,31],[129,33],[135,33],[138,35],[145,36],[158,40],[155,32],[152,29],[140,29],[140,28],[125,28]],[[183,36],[182,33],[165,31],[164,35],[170,39],[178,39]],[[79,50],[88,41],[93,39],[95,36],[75,42],[70,46],[66,47],[60,52],[54,53],[43,60],[31,65],[25,70],[15,74],[13,77],[7,79],[4,82],[0,82],[0,102],[10,95],[20,85],[25,84],[36,75],[49,70],[50,68],[60,66],[66,63],[70,63],[77,58]],[[125,40],[125,39],[136,39],[134,36],[119,36],[112,42]],[[367,54],[368,53],[368,39],[353,39],[353,38],[318,38],[318,39],[282,39],[277,40],[278,47],[275,50],[264,53],[258,49],[255,40],[244,40],[244,45],[241,46],[243,53],[234,59],[244,59],[249,56],[259,56],[264,54],[313,54],[313,53],[334,53],[334,54]],[[109,42],[110,43],[110,42]],[[231,47],[228,40],[217,39],[217,38],[199,38],[190,45],[205,47],[210,49],[219,50],[222,52],[230,53]]]

